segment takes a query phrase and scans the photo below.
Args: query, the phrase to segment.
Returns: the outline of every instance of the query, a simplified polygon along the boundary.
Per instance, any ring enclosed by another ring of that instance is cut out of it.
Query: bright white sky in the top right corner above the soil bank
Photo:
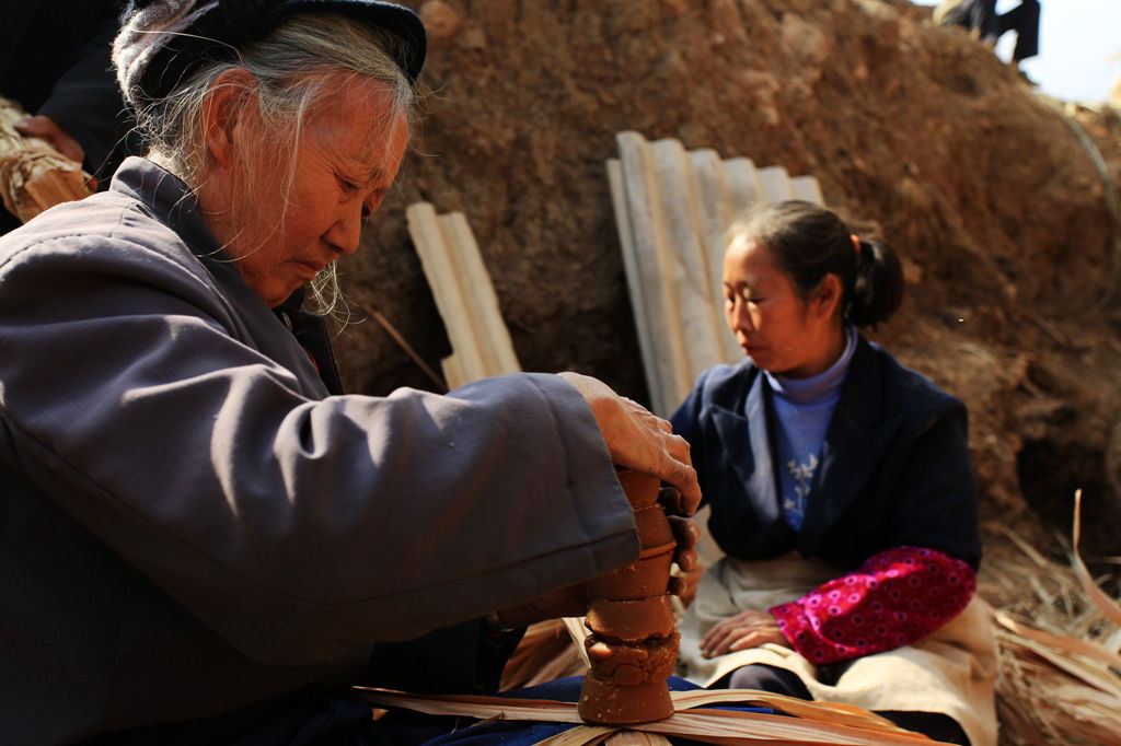
[[[911,1],[938,4],[938,0]],[[998,0],[997,11],[1018,4],[1019,0]],[[1039,0],[1039,56],[1025,59],[1020,69],[1057,99],[1105,101],[1121,78],[1121,0]],[[1006,34],[997,56],[1011,59],[1015,46],[1016,34]]]

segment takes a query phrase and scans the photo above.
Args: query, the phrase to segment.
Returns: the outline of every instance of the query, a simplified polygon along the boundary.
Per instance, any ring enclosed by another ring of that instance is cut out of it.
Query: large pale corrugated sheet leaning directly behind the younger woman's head
[[[675,139],[651,143],[633,131],[615,139],[620,157],[606,162],[615,226],[650,409],[665,417],[704,370],[743,360],[723,317],[732,222],[760,202],[822,204],[821,188],[812,176],[791,179],[782,166],[722,160],[713,149],[686,151]]]

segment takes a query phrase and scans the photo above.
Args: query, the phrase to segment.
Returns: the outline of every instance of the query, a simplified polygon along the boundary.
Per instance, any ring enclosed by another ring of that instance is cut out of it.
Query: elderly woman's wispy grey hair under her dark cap
[[[247,174],[247,183],[253,176],[279,177],[287,193],[308,114],[355,82],[390,92],[387,121],[402,116],[408,122],[414,120],[417,90],[408,68],[401,65],[401,36],[360,18],[335,13],[286,18],[265,36],[240,45],[235,56],[193,64],[189,75],[169,93],[146,99],[138,81],[154,58],[159,64],[160,45],[192,28],[215,3],[197,3],[197,9],[195,6],[165,0],[142,8],[132,15],[114,45],[118,76],[122,90],[132,92],[130,102],[136,108],[139,133],[149,148],[148,158],[189,188],[197,189],[205,178],[207,148],[202,115],[207,93],[223,73],[234,68],[252,75],[260,137],[280,159],[245,164],[247,170],[268,170],[267,175]],[[249,192],[241,195],[244,204],[251,199]],[[333,263],[312,283],[312,293],[319,313],[334,307],[339,293]]]

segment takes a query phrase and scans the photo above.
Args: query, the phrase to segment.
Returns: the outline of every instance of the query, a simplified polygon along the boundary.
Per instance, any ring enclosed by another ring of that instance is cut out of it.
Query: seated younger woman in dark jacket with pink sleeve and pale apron
[[[899,307],[899,260],[797,201],[729,236],[724,310],[748,357],[670,418],[725,554],[682,623],[682,675],[991,746],[965,407],[858,332]]]

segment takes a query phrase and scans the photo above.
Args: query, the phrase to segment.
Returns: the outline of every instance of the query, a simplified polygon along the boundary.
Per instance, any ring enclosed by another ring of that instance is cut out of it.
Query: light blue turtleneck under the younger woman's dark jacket
[[[763,371],[775,393],[782,517],[796,531],[806,515],[825,431],[841,399],[841,386],[855,349],[856,329],[847,326],[844,352],[825,372],[810,379],[788,379]]]

